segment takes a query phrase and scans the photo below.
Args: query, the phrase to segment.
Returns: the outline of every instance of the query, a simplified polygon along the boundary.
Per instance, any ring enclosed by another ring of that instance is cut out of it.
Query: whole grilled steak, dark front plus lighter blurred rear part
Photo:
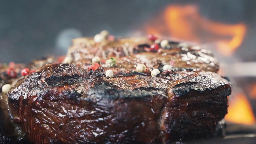
[[[95,56],[99,65],[92,64]],[[66,57],[68,64],[46,64],[1,94],[8,96],[12,123],[29,142],[208,138],[227,114],[231,84],[216,73],[212,53],[198,46],[169,41],[163,47],[148,38],[78,38]],[[146,66],[143,72],[136,71],[139,64]],[[153,69],[160,74],[151,76]],[[107,70],[114,75],[106,75]]]

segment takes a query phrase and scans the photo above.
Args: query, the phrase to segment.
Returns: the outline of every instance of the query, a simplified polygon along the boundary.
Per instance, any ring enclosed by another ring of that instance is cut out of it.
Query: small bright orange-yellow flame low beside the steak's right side
[[[254,114],[246,96],[237,94],[228,107],[225,120],[240,124],[255,124]]]

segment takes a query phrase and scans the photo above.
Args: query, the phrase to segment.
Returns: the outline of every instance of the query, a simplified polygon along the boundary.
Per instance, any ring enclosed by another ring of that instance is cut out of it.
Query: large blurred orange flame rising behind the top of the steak
[[[197,6],[171,5],[164,12],[163,20],[156,26],[147,26],[150,34],[169,32],[173,38],[197,43],[217,42],[218,51],[224,56],[230,56],[241,45],[246,33],[246,25],[223,24],[203,18]],[[164,22],[164,25],[161,24]],[[165,25],[166,24],[166,25]]]

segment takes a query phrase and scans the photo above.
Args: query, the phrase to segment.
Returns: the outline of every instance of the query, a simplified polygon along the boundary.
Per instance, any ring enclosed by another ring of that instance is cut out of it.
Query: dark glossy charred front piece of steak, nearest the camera
[[[39,143],[159,143],[209,137],[227,113],[230,83],[213,72],[48,64],[8,92],[11,114]],[[107,78],[106,70],[115,77]],[[66,78],[65,78],[66,76]]]

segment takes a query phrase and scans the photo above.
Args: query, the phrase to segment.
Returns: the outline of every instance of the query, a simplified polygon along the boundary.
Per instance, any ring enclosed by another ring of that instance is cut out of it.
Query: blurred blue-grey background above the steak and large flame
[[[255,0],[1,0],[0,63],[64,55],[72,38],[101,30],[146,36],[145,24],[170,4],[196,4],[211,20],[245,22],[248,33],[236,53],[244,61],[256,60]]]

